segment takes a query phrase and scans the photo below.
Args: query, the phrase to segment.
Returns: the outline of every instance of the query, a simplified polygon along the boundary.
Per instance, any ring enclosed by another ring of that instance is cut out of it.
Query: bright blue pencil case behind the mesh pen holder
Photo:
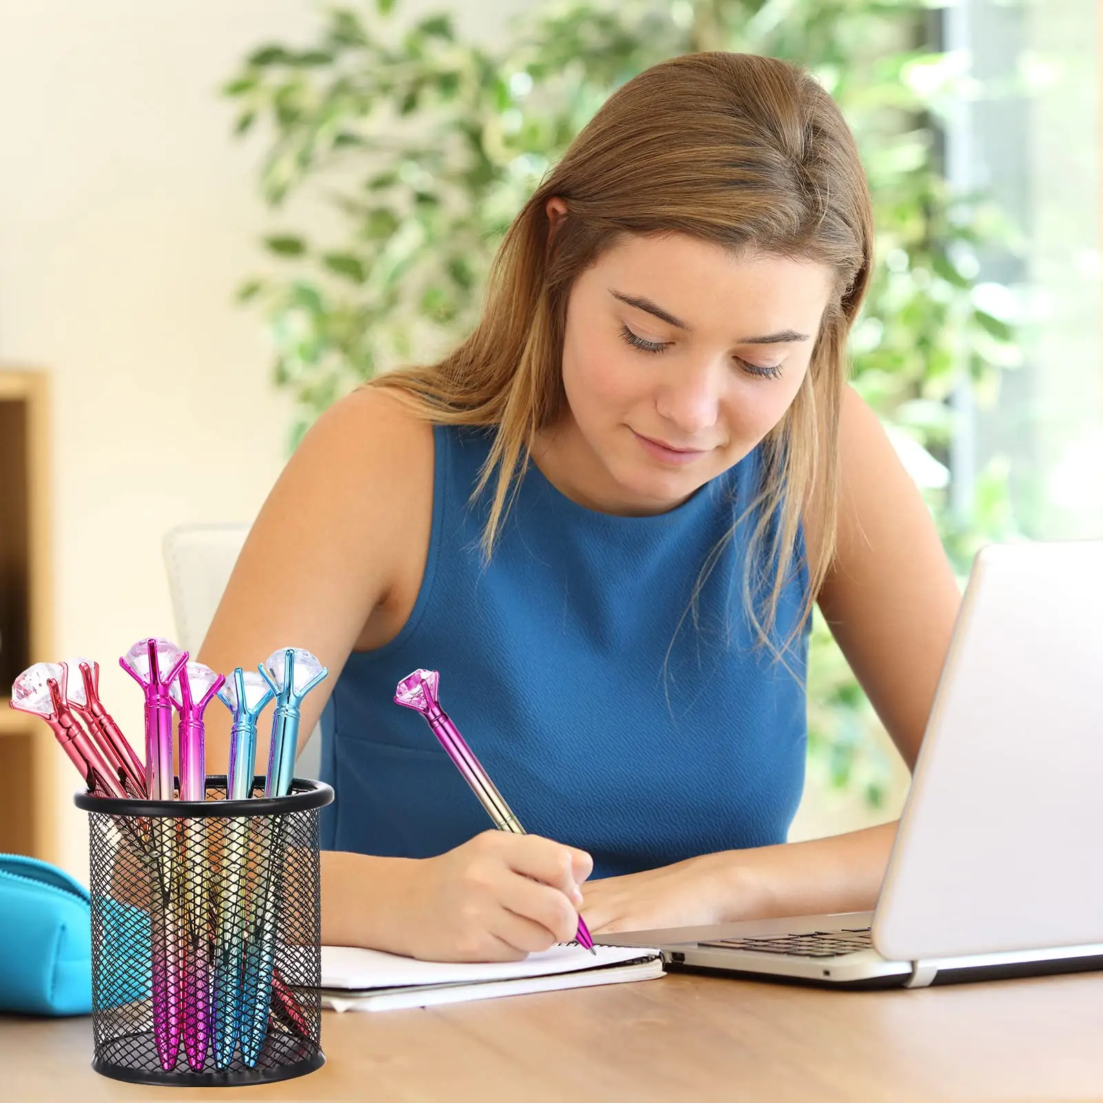
[[[104,938],[149,917],[107,902]],[[148,992],[126,993],[140,999]],[[0,854],[0,1011],[92,1013],[92,904],[88,890],[55,866]]]

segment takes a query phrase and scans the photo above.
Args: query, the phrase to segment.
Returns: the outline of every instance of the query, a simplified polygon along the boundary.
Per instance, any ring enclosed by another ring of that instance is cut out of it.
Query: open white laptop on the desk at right
[[[977,554],[875,911],[596,941],[839,987],[1103,968],[1103,540]]]

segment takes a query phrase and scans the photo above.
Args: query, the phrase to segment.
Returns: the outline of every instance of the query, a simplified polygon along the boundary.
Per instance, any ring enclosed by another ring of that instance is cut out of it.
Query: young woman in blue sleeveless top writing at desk
[[[526,204],[474,333],[319,419],[200,657],[330,668],[302,717],[326,706],[326,942],[508,959],[579,911],[600,933],[872,906],[895,825],[784,843],[812,603],[909,764],[959,604],[846,385],[871,246],[811,77],[679,57]],[[532,834],[488,831],[393,704],[417,667]]]

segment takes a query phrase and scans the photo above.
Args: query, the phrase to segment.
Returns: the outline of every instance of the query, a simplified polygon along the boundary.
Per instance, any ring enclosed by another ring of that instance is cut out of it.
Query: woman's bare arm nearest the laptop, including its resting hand
[[[930,511],[876,415],[850,387],[839,420],[839,475],[836,553],[817,602],[911,769],[961,595]],[[804,515],[812,554],[821,524],[813,502]],[[893,822],[592,881],[583,887],[582,914],[591,931],[628,931],[866,911],[895,833]]]

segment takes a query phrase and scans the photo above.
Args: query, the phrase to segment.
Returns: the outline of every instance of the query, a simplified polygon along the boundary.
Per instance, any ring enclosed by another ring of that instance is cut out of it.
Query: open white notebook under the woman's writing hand
[[[322,1006],[384,1011],[527,992],[647,981],[663,975],[658,951],[640,946],[553,946],[520,962],[421,962],[378,950],[322,946]]]

